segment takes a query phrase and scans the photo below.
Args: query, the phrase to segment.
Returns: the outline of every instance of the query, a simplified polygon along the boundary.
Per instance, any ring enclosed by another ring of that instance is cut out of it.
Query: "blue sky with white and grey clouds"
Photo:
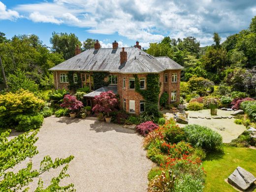
[[[0,0],[0,32],[36,34],[47,46],[52,32],[98,39],[102,48],[114,40],[148,48],[164,36],[194,36],[206,46],[214,32],[224,41],[247,29],[255,15],[256,0]]]

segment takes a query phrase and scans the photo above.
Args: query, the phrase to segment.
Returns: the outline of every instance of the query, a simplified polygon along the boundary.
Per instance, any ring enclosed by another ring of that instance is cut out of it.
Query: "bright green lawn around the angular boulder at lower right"
[[[249,148],[224,147],[220,152],[207,155],[203,162],[206,171],[204,192],[236,192],[226,179],[237,166],[256,176],[256,150]],[[254,191],[256,192],[256,190]]]

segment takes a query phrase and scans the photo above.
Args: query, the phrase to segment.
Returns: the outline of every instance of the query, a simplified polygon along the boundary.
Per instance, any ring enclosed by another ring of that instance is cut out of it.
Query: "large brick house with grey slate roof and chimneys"
[[[73,58],[49,69],[53,71],[56,89],[68,89],[68,72],[73,71],[73,82],[81,75],[81,86],[89,86],[94,90],[97,79],[92,78],[96,71],[104,71],[109,76],[104,79],[109,85],[101,87],[85,95],[88,105],[94,105],[93,98],[101,92],[113,91],[120,96],[120,108],[129,113],[139,114],[144,111],[143,96],[135,91],[134,74],[139,79],[140,89],[147,89],[147,74],[158,73],[160,76],[160,96],[166,92],[168,103],[179,102],[180,74],[182,67],[168,57],[153,57],[143,50],[139,42],[134,47],[119,48],[118,42],[112,48],[100,48],[96,40],[95,48],[81,53],[77,47]],[[152,90],[154,91],[154,90]],[[159,96],[159,97],[160,97]]]

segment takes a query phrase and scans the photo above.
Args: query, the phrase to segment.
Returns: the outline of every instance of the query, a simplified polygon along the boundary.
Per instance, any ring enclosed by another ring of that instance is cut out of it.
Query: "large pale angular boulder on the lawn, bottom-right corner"
[[[256,181],[256,178],[252,173],[238,166],[234,172],[229,175],[227,181],[239,190],[246,191]]]

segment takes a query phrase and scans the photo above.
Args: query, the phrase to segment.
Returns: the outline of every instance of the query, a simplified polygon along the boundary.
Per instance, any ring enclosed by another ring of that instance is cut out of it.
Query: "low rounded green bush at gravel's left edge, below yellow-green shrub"
[[[43,124],[43,116],[37,115],[18,115],[15,120],[18,126],[15,128],[18,131],[28,131],[30,129],[40,128]]]

